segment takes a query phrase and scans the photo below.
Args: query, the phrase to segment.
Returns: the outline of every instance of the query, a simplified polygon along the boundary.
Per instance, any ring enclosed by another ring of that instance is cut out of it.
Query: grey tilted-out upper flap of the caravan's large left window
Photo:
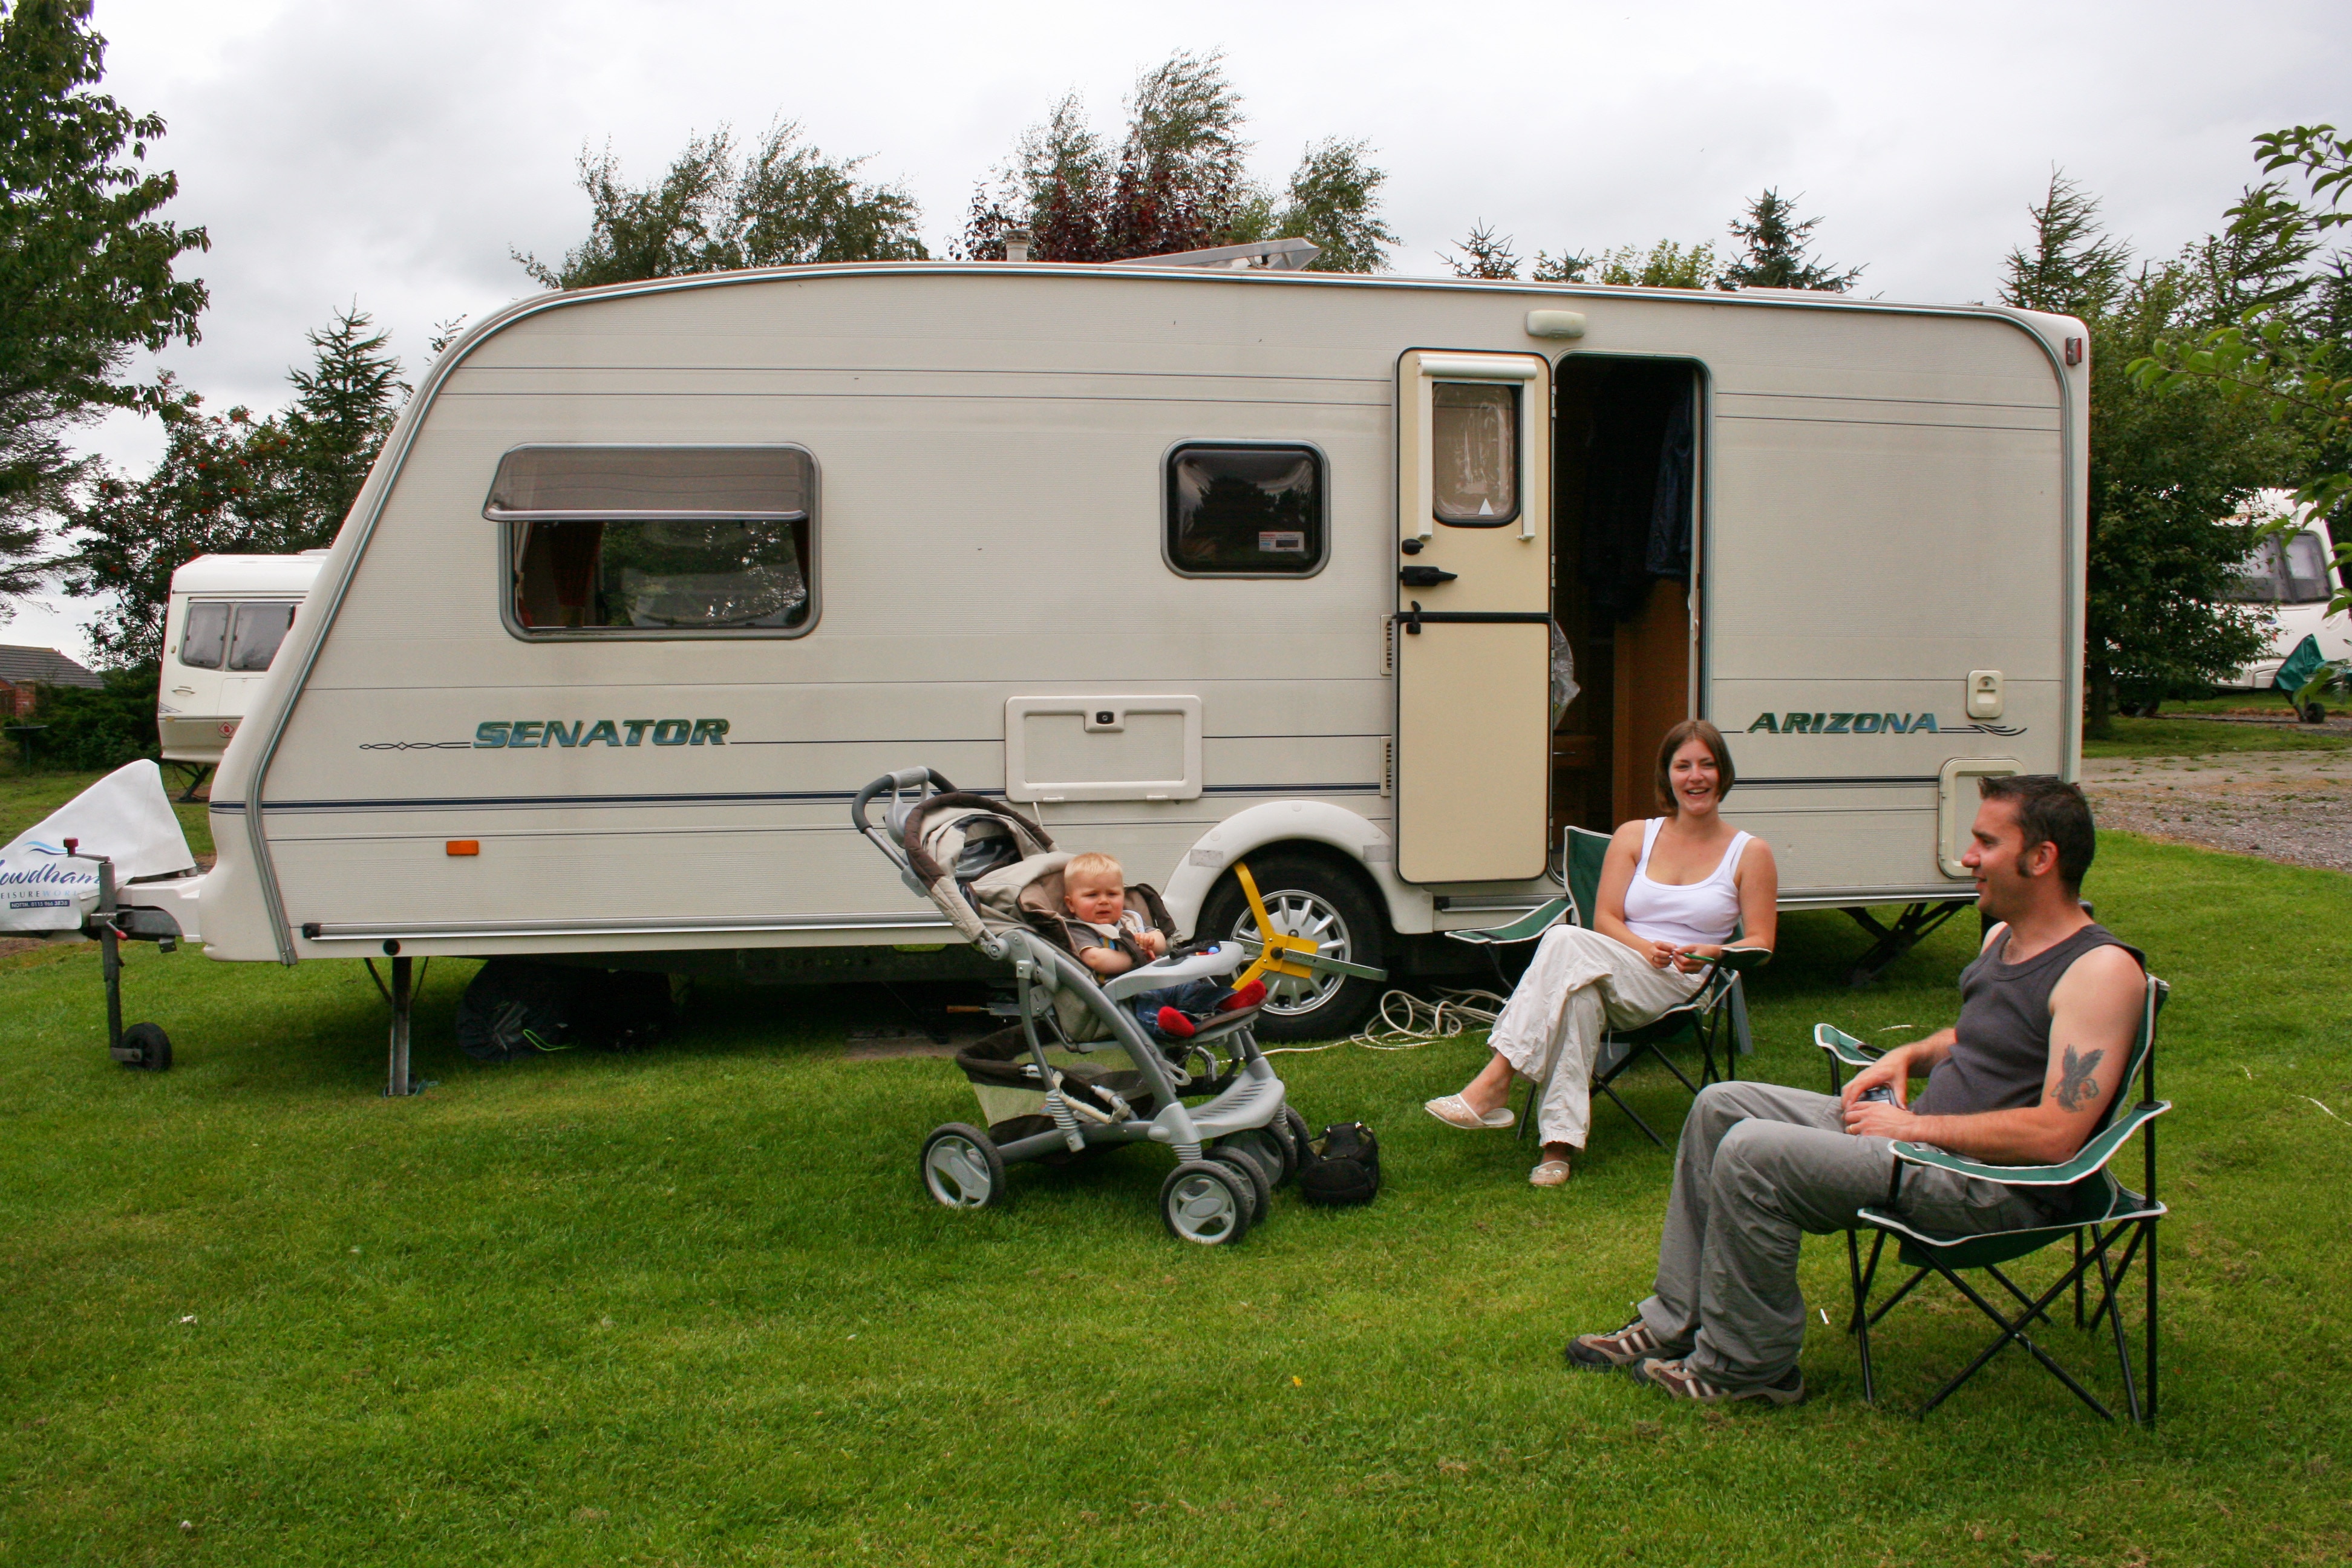
[[[800,447],[515,447],[499,458],[482,515],[492,522],[668,522],[809,515]]]

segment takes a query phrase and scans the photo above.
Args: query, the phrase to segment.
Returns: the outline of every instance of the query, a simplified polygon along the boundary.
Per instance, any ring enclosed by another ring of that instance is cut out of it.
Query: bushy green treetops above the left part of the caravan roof
[[[550,289],[807,261],[920,261],[929,252],[915,233],[915,197],[858,183],[866,162],[804,146],[793,120],[771,125],[741,162],[724,125],[691,136],[652,186],[628,186],[609,146],[581,150],[588,237],[562,266],[508,254]]]

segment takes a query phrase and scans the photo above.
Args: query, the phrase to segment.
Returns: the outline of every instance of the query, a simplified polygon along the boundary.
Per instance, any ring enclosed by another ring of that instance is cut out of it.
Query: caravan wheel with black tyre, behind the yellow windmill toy
[[[1308,936],[1322,943],[1324,957],[1348,964],[1381,966],[1385,924],[1355,879],[1315,856],[1242,856],[1265,914],[1284,936]],[[1258,917],[1249,912],[1242,884],[1228,877],[1209,896],[1200,917],[1202,936],[1258,936]],[[1381,999],[1374,980],[1352,976],[1268,976],[1265,1009],[1258,1013],[1261,1039],[1336,1039],[1350,1034],[1371,1016]]]

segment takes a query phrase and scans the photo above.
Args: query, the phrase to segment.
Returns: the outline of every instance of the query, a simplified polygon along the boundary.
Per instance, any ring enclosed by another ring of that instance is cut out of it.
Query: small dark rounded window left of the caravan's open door
[[[1169,567],[1185,576],[1312,576],[1324,475],[1312,447],[1183,444],[1169,454]]]

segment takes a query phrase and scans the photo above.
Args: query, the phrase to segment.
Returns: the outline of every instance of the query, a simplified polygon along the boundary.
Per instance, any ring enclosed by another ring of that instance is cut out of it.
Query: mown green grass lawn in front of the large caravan
[[[1475,1037],[1277,1058],[1310,1119],[1381,1131],[1388,1190],[1284,1192],[1228,1253],[1162,1234],[1157,1150],[931,1206],[917,1140],[971,1093],[842,1060],[868,992],[706,990],[659,1051],[480,1067],[445,961],[440,1086],[390,1103],[358,966],[134,950],[179,1048],[148,1077],[89,950],[14,954],[0,1563],[2343,1561],[2352,1126],[2312,1100],[2352,1114],[2352,884],[2112,835],[2089,891],[2176,985],[2152,1434],[2016,1349],[1910,1420],[1983,1340],[1940,1288],[1877,1333],[1884,1408],[1818,1319],[1792,1410],[1564,1371],[1646,1288],[1668,1154],[1604,1105],[1529,1190],[1526,1145],[1421,1112]],[[1860,936],[1792,917],[1748,1074],[1820,1084],[1820,1018],[1947,1023],[1971,933],[1849,992]],[[1663,1074],[1635,1093],[1675,1121]],[[1839,1241],[1804,1281],[1837,1319]]]

